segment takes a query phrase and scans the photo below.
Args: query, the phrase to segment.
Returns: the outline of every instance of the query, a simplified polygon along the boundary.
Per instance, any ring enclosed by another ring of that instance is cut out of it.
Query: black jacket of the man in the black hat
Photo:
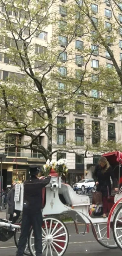
[[[42,188],[51,180],[51,176],[45,179],[31,177],[24,182],[23,212],[34,214],[42,209]]]

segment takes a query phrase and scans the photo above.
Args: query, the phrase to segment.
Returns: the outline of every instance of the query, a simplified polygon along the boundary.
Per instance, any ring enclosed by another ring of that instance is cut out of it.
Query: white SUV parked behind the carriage
[[[74,190],[85,190],[88,187],[96,189],[94,179],[82,179],[73,185]]]

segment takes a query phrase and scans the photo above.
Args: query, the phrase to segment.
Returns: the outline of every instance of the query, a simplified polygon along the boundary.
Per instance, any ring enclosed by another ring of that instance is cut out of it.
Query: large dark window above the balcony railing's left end
[[[6,134],[5,135],[5,154],[8,157],[20,157],[21,135],[20,134]]]

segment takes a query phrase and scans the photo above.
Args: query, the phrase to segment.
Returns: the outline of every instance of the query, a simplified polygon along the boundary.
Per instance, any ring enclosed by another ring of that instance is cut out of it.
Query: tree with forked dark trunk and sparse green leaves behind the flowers
[[[106,128],[83,122],[81,114],[105,117],[105,108],[113,104],[119,105],[116,115],[121,113],[122,69],[109,46],[119,34],[116,21],[108,42],[104,17],[96,23],[88,0],[0,0],[0,5],[1,149],[9,142],[12,149],[35,150],[51,160],[60,151],[85,150],[87,157],[88,150],[100,151],[102,144],[105,151],[114,148],[104,141]],[[105,58],[104,50],[115,69],[94,67],[98,53]],[[76,113],[80,117],[74,124]],[[73,138],[76,130],[84,134],[84,143]],[[24,139],[15,139],[15,133]]]

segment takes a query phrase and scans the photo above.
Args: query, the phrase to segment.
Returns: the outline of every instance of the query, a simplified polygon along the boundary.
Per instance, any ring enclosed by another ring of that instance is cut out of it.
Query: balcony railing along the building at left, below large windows
[[[7,157],[25,157],[25,158],[38,158],[38,159],[44,159],[43,155],[41,153],[33,153],[33,152],[5,152]]]

